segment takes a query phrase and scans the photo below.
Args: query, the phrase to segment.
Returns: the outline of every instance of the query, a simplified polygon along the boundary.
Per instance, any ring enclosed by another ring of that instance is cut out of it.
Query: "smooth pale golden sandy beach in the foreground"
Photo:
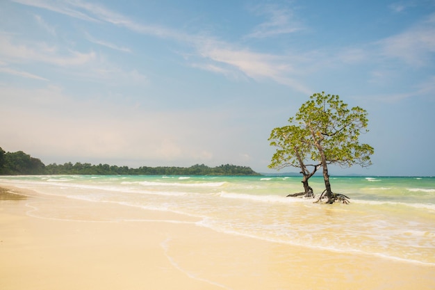
[[[3,290],[435,287],[433,266],[224,234],[165,211],[1,188]],[[110,220],[114,211],[123,218]]]

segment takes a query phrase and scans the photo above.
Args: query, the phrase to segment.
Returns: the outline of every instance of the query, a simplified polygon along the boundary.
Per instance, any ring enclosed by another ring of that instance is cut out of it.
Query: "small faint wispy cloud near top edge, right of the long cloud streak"
[[[265,15],[267,21],[259,24],[249,33],[247,38],[268,38],[271,36],[293,33],[302,29],[301,25],[295,21],[293,12],[289,9],[274,6],[256,6],[253,9],[257,15]]]

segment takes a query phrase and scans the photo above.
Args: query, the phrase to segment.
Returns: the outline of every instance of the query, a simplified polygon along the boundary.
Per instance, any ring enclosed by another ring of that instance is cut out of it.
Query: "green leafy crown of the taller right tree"
[[[302,104],[294,121],[310,132],[313,144],[318,148],[311,156],[313,159],[320,160],[324,154],[328,164],[371,165],[373,148],[359,143],[360,134],[368,131],[367,112],[363,108],[348,108],[338,95],[316,93]]]

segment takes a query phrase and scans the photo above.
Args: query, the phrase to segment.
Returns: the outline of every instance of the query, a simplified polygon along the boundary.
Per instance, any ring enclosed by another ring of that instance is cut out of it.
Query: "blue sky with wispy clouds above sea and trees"
[[[331,175],[433,176],[434,65],[433,0],[5,0],[0,146],[274,172],[270,131],[325,91],[368,111],[375,148]]]

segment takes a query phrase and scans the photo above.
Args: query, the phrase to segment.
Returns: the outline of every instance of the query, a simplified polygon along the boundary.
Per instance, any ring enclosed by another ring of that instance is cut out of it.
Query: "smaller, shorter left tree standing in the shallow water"
[[[269,140],[270,145],[278,147],[272,156],[269,168],[282,169],[287,166],[301,168],[304,192],[287,196],[304,195],[306,198],[314,198],[313,188],[309,186],[308,180],[320,168],[321,164],[306,164],[306,159],[313,154],[311,151],[314,149],[309,131],[295,125],[288,125],[273,129]],[[309,170],[309,166],[313,169]]]

